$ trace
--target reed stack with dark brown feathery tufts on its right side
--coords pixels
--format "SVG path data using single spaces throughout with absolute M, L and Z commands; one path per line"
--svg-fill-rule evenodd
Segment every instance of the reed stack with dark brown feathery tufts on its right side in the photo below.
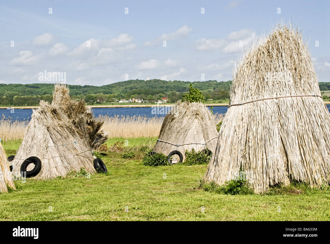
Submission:
M 35 156 L 42 167 L 35 179 L 66 176 L 84 167 L 95 172 L 92 149 L 107 140 L 100 128 L 103 122 L 93 117 L 83 101 L 71 101 L 66 85 L 55 84 L 51 104 L 41 101 L 34 110 L 13 162 L 13 174 L 20 175 L 23 161 Z M 30 168 L 29 168 L 30 167 Z M 33 166 L 28 166 L 28 170 Z

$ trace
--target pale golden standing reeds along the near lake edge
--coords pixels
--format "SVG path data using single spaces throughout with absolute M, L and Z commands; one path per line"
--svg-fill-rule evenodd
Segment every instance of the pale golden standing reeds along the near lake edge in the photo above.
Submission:
M 215 114 L 215 123 L 222 121 L 223 114 Z M 109 138 L 158 137 L 164 117 L 147 116 L 100 116 L 104 122 L 102 130 Z M 0 138 L 4 141 L 23 139 L 27 129 L 27 121 L 0 120 Z

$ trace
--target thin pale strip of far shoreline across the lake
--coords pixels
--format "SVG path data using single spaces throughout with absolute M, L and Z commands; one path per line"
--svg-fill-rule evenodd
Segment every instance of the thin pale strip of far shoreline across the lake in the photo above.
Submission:
M 330 101 L 323 101 L 325 104 L 330 104 Z M 170 107 L 173 106 L 175 103 L 172 104 L 166 104 L 166 103 L 160 103 L 159 106 L 166 106 Z M 149 104 L 124 104 L 124 105 L 86 105 L 90 108 L 107 108 L 107 107 L 154 107 L 157 104 L 149 103 Z M 209 107 L 216 107 L 216 106 L 228 106 L 229 103 L 205 103 L 206 106 Z M 39 108 L 39 106 L 0 106 L 0 109 L 6 109 L 6 108 L 14 108 L 14 109 L 36 109 Z

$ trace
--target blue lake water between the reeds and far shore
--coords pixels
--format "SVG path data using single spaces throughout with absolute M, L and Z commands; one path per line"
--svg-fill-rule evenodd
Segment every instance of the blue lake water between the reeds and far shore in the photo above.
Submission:
M 208 107 L 210 109 L 210 107 Z M 330 104 L 327 105 L 328 110 L 330 110 Z M 152 114 L 152 107 L 107 107 L 107 108 L 92 108 L 94 116 L 99 115 L 123 115 L 123 116 L 148 116 L 148 117 L 163 117 L 165 114 Z M 224 114 L 227 112 L 227 106 L 215 106 L 213 107 L 214 113 Z M 11 109 L 0 109 L 0 115 L 5 116 L 5 118 L 12 118 L 13 120 L 30 120 L 32 114 L 32 109 L 15 109 L 12 113 Z

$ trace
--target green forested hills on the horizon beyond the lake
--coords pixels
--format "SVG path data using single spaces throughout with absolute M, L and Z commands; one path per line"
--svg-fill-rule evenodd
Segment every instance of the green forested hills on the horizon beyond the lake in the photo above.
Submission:
M 202 91 L 205 101 L 229 99 L 231 81 L 194 81 L 193 87 Z M 188 81 L 127 80 L 104 86 L 68 85 L 72 99 L 84 99 L 88 104 L 103 102 L 118 102 L 120 99 L 143 99 L 143 101 L 158 101 L 163 97 L 168 102 L 182 99 L 189 91 Z M 321 91 L 330 90 L 329 82 L 319 83 Z M 0 105 L 38 105 L 40 100 L 52 101 L 54 84 L 0 84 Z M 327 96 L 324 94 L 324 98 Z

